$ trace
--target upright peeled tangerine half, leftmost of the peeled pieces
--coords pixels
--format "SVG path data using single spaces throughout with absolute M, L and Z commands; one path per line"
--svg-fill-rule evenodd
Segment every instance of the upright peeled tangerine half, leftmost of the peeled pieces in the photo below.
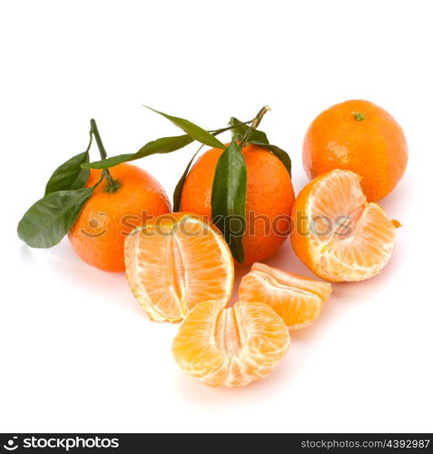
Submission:
M 162 215 L 125 241 L 126 276 L 154 321 L 181 321 L 195 304 L 231 298 L 234 269 L 220 232 L 202 216 Z

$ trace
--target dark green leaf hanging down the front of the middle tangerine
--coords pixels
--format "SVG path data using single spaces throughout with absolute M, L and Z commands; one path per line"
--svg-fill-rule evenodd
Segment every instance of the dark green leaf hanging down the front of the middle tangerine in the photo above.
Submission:
M 233 138 L 221 154 L 212 183 L 212 221 L 221 230 L 233 257 L 245 260 L 242 236 L 245 232 L 247 166 L 241 148 Z

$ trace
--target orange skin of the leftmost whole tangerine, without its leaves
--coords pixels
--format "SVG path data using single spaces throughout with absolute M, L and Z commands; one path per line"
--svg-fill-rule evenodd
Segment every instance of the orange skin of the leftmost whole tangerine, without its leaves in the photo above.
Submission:
M 86 186 L 97 183 L 101 172 L 92 169 Z M 110 168 L 110 173 L 119 189 L 111 193 L 105 180 L 99 184 L 69 232 L 69 240 L 84 262 L 103 271 L 124 271 L 126 235 L 145 220 L 143 216 L 171 212 L 171 205 L 161 184 L 140 167 L 123 163 Z

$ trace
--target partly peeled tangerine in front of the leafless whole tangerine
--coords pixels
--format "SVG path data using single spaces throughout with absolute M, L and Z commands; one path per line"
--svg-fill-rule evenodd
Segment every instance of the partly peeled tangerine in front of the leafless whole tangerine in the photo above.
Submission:
M 312 180 L 293 208 L 293 249 L 327 281 L 363 281 L 379 273 L 396 243 L 396 227 L 368 203 L 356 173 L 334 170 Z

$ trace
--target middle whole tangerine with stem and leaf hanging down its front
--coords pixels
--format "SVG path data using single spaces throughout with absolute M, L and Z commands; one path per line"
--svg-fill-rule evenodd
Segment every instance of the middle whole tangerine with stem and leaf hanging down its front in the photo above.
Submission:
M 241 264 L 271 256 L 290 232 L 290 158 L 256 129 L 268 109 L 250 127 L 233 118 L 231 144 L 204 153 L 182 188 L 181 211 L 212 219 Z

